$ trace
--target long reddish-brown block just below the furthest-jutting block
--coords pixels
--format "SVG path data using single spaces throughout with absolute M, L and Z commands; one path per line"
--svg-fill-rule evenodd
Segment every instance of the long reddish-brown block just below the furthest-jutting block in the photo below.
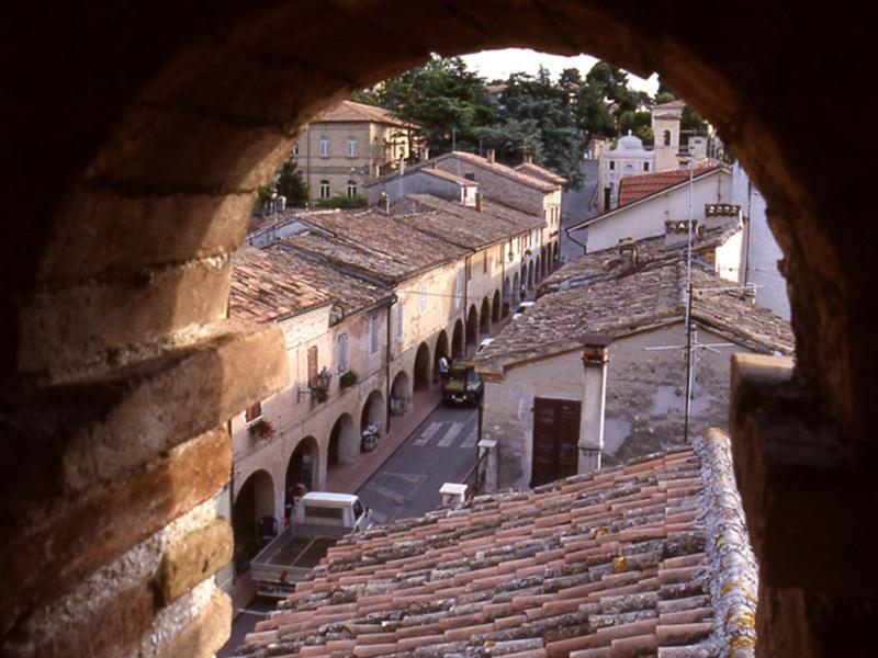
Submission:
M 56 503 L 18 534 L 4 530 L 0 570 L 16 587 L 0 593 L 0 628 L 71 591 L 98 567 L 207 500 L 228 480 L 230 467 L 228 434 L 213 430 L 140 474 Z

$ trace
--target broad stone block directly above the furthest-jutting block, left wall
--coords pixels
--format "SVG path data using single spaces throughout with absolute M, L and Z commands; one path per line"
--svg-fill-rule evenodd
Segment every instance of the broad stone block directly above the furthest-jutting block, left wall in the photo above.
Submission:
M 226 315 L 232 264 L 209 258 L 44 286 L 19 314 L 21 373 L 65 373 Z

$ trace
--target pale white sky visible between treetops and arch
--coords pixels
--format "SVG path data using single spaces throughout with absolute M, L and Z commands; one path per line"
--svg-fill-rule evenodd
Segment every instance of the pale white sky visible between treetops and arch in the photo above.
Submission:
M 597 61 L 590 55 L 577 55 L 576 57 L 564 57 L 562 55 L 550 55 L 548 53 L 537 53 L 529 48 L 505 48 L 503 50 L 483 50 L 464 55 L 462 59 L 466 66 L 476 71 L 483 78 L 494 80 L 505 79 L 509 73 L 524 71 L 536 75 L 540 65 L 544 66 L 556 79 L 559 73 L 565 68 L 577 68 L 585 76 L 588 69 Z M 649 80 L 639 78 L 634 73 L 629 73 L 629 84 L 631 88 L 649 92 L 654 95 L 658 89 L 658 75 L 653 73 Z

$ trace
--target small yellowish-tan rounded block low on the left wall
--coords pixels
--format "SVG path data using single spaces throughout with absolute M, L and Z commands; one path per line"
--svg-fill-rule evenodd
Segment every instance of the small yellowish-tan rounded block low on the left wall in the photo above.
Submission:
M 223 519 L 195 530 L 168 547 L 154 583 L 162 605 L 175 601 L 232 559 L 232 527 Z

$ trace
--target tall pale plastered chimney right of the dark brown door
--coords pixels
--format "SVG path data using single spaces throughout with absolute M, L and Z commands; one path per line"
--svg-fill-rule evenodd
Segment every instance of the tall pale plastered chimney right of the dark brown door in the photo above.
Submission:
M 579 474 L 600 468 L 604 450 L 604 417 L 607 402 L 606 336 L 583 336 L 583 424 L 579 433 Z

